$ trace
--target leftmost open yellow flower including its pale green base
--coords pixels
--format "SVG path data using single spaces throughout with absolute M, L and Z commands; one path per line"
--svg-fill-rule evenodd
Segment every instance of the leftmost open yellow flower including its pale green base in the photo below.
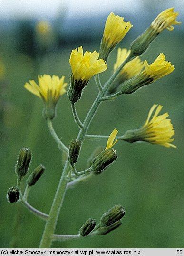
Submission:
M 45 103 L 44 117 L 52 119 L 55 116 L 55 107 L 61 95 L 66 92 L 64 83 L 65 77 L 59 78 L 57 75 L 39 75 L 39 85 L 34 80 L 30 80 L 24 87 L 34 95 L 41 98 Z

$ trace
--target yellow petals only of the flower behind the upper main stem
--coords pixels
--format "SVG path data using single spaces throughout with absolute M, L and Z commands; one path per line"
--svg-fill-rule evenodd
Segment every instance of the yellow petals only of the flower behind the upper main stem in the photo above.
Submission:
M 126 58 L 129 56 L 130 50 L 127 50 L 126 48 L 118 48 L 117 49 L 117 60 L 114 64 L 114 72 L 116 69 L 126 60 Z M 143 69 L 144 64 L 141 61 L 139 57 L 134 58 L 132 61 L 129 61 L 125 64 L 125 66 L 122 68 L 120 72 L 121 80 L 130 79 L 133 76 L 139 74 L 141 70 Z M 123 82 L 122 81 L 122 82 Z

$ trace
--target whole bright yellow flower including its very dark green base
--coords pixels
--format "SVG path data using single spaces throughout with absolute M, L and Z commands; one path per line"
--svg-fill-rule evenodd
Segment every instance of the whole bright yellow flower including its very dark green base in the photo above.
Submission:
M 72 50 L 69 63 L 72 69 L 71 85 L 68 90 L 68 97 L 75 103 L 80 99 L 82 90 L 87 85 L 89 79 L 107 69 L 107 64 L 103 59 L 98 59 L 99 53 L 86 51 L 83 54 L 82 46 L 78 50 Z

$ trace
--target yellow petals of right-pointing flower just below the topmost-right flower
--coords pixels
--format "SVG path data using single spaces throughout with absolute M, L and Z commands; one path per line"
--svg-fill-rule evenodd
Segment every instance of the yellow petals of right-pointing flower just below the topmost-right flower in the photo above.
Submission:
M 160 55 L 150 65 L 148 65 L 147 61 L 145 60 L 144 65 L 145 70 L 143 72 L 145 72 L 148 77 L 153 79 L 152 82 L 170 74 L 175 69 L 169 61 L 165 61 L 165 55 L 163 53 L 160 53 Z

